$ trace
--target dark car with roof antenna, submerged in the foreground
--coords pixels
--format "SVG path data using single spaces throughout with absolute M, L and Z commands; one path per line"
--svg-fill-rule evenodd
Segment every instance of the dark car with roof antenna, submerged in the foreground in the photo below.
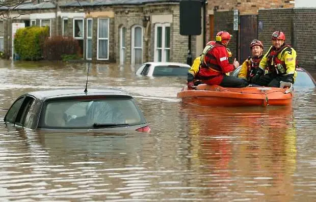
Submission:
M 25 93 L 11 105 L 4 122 L 33 130 L 150 131 L 134 98 L 114 88 Z

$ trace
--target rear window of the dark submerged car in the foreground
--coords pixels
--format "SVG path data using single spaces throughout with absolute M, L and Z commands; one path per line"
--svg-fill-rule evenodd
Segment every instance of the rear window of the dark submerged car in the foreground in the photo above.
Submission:
M 130 98 L 52 100 L 43 109 L 39 128 L 106 128 L 146 123 Z

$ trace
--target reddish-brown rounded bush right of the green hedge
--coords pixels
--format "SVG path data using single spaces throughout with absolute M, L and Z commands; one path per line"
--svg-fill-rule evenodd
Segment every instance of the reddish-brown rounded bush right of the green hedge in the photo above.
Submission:
M 80 59 L 80 46 L 72 37 L 54 36 L 45 40 L 43 56 L 45 60 Z

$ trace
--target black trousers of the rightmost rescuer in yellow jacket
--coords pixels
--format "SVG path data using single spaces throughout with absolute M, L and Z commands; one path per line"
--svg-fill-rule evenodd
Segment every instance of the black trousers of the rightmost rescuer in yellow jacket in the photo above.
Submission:
M 274 74 L 266 74 L 261 76 L 260 78 L 253 81 L 254 84 L 261 86 L 269 86 L 269 87 L 280 87 L 280 81 L 294 83 L 294 74 L 288 74 L 285 76 L 282 75 L 274 75 Z

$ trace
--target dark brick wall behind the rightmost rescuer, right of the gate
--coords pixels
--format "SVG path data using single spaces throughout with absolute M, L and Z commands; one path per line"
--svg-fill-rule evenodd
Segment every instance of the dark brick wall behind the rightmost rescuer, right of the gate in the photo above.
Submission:
M 297 51 L 297 59 L 303 68 L 315 68 L 316 56 L 315 31 L 316 9 L 268 9 L 259 10 L 258 39 L 265 45 L 265 51 L 271 46 L 271 35 L 280 30 L 285 34 L 285 43 L 291 44 Z

